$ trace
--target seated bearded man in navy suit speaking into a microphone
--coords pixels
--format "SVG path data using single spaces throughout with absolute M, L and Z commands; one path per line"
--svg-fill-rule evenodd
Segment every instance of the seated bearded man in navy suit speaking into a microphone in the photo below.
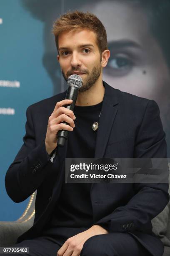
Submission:
M 74 113 L 63 107 L 71 103 L 64 100 L 66 92 L 27 110 L 24 144 L 5 177 L 15 202 L 37 189 L 34 225 L 17 246 L 29 247 L 32 256 L 161 256 L 163 244 L 152 233 L 151 219 L 169 201 L 168 184 L 64 182 L 66 157 L 166 158 L 158 105 L 102 81 L 110 51 L 95 15 L 66 13 L 53 32 L 63 76 L 78 74 L 83 85 Z M 70 131 L 64 148 L 57 146 L 62 129 Z

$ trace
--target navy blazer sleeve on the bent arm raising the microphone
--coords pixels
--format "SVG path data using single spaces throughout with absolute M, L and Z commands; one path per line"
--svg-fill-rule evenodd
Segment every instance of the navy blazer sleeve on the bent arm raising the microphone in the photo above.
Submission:
M 42 184 L 53 163 L 45 148 L 45 139 L 36 146 L 31 106 L 26 111 L 26 134 L 13 163 L 5 175 L 7 194 L 14 202 L 22 202 Z

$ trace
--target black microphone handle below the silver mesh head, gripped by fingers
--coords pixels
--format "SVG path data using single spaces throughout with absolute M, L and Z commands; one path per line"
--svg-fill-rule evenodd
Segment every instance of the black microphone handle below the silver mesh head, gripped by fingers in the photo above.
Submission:
M 79 91 L 79 87 L 77 87 L 77 86 L 72 85 L 72 86 L 68 87 L 65 99 L 72 100 L 72 104 L 65 105 L 64 106 L 65 108 L 68 108 L 72 111 L 74 110 L 75 102 L 77 100 L 78 91 Z M 66 123 L 66 122 L 62 122 L 62 123 L 65 123 L 65 124 L 69 125 L 69 123 Z M 67 137 L 68 137 L 68 131 L 65 131 L 65 130 L 58 131 L 58 133 L 57 133 L 57 138 L 58 138 L 57 146 L 64 146 L 65 141 L 67 140 Z

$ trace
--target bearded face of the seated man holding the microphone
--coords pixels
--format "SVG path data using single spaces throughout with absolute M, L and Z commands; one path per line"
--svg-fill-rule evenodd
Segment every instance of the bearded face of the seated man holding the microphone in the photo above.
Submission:
M 72 74 L 82 77 L 80 92 L 90 89 L 101 74 L 100 51 L 94 32 L 82 29 L 61 33 L 57 56 L 65 80 Z

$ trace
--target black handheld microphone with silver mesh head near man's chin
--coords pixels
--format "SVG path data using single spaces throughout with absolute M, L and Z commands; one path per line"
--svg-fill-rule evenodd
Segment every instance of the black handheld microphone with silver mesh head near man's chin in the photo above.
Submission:
M 68 80 L 67 80 L 67 94 L 65 99 L 67 100 L 72 100 L 72 103 L 70 105 L 65 105 L 65 108 L 68 108 L 70 110 L 74 110 L 75 102 L 77 100 L 77 95 L 80 87 L 82 86 L 82 78 L 79 75 L 72 74 Z M 67 125 L 69 125 L 67 122 L 63 122 Z M 64 146 L 65 141 L 67 140 L 68 137 L 68 131 L 65 130 L 60 130 L 57 133 L 57 146 Z

